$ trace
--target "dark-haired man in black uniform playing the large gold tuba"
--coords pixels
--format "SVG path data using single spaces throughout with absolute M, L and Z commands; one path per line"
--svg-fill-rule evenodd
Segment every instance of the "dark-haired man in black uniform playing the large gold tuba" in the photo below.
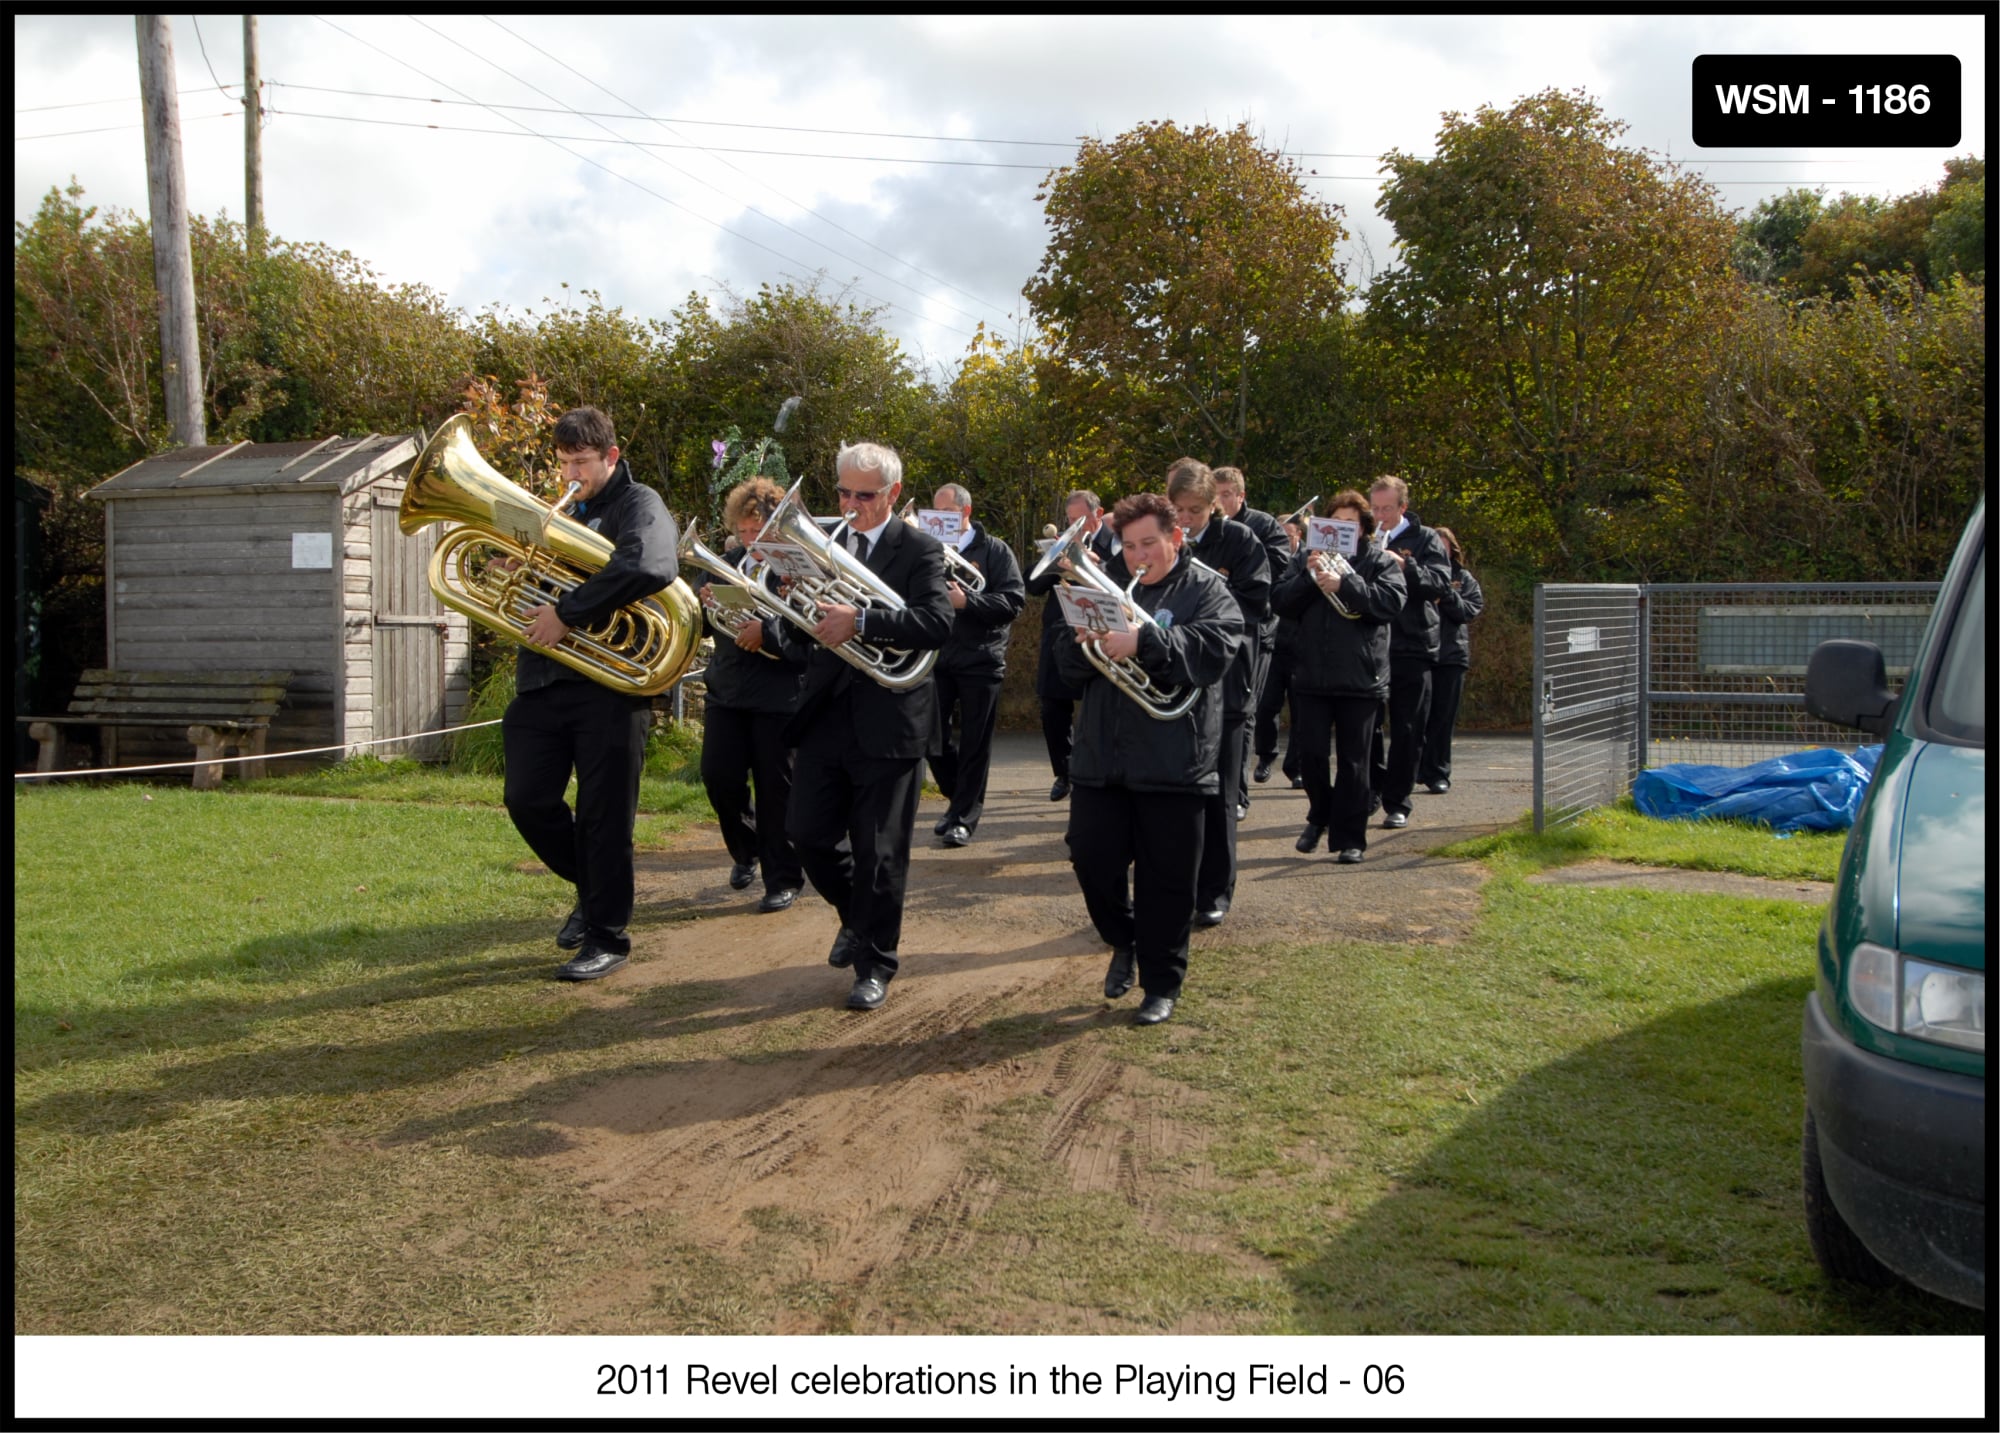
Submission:
M 680 534 L 666 502 L 632 480 L 612 420 L 570 408 L 556 420 L 562 484 L 578 484 L 568 516 L 612 540 L 610 560 L 560 602 L 528 616 L 514 664 L 514 700 L 500 719 L 506 813 L 542 865 L 576 887 L 576 907 L 556 945 L 576 955 L 564 981 L 596 981 L 626 963 L 632 939 L 632 823 L 646 767 L 652 702 L 600 686 L 536 646 L 556 646 L 572 626 L 594 626 L 620 606 L 662 590 L 680 570 Z M 562 799 L 576 773 L 576 811 Z

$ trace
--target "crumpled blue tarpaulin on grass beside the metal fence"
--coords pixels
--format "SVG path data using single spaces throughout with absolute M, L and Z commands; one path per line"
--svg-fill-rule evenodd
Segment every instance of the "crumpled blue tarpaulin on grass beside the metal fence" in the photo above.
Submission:
M 1754 767 L 1674 765 L 1642 771 L 1632 801 L 1662 821 L 1756 821 L 1772 831 L 1844 831 L 1854 825 L 1882 747 L 1852 757 L 1830 747 Z

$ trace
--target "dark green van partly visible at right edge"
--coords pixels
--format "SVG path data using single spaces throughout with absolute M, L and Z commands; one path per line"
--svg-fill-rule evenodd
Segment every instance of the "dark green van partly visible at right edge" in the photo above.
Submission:
M 1822 642 L 1806 708 L 1884 741 L 1806 997 L 1806 1233 L 1838 1279 L 1986 1307 L 1986 502 L 1902 696 Z

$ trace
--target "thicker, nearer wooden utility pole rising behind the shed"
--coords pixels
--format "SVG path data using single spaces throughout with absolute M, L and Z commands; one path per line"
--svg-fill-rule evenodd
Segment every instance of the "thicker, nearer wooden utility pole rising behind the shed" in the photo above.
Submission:
M 174 32 L 164 14 L 136 16 L 138 92 L 146 112 L 146 192 L 152 202 L 152 282 L 160 294 L 160 378 L 174 442 L 208 442 L 202 412 L 202 346 L 194 328 L 194 260 L 188 252 L 188 182 L 180 170 L 180 92 Z

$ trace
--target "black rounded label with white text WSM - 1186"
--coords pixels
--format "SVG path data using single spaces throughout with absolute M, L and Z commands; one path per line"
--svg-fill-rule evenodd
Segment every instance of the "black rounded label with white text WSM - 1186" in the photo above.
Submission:
M 1698 54 L 1694 142 L 1704 150 L 1958 144 L 1956 54 Z

